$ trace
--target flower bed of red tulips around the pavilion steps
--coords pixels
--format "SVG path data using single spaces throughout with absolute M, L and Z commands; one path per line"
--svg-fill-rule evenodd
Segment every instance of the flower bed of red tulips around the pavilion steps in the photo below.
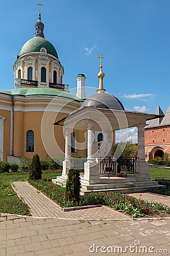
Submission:
M 80 196 L 80 202 L 78 204 L 75 199 L 67 202 L 65 198 L 65 187 L 58 183 L 52 183 L 48 177 L 38 181 L 31 180 L 29 183 L 39 189 L 39 191 L 45 193 L 50 199 L 56 201 L 63 208 L 103 204 L 133 217 L 152 216 L 153 214 L 162 212 L 170 214 L 170 208 L 166 205 L 155 202 L 149 203 L 142 200 L 142 195 L 140 195 L 140 199 L 136 199 L 133 196 L 129 196 L 128 191 L 122 191 L 122 193 L 91 191 L 88 195 Z

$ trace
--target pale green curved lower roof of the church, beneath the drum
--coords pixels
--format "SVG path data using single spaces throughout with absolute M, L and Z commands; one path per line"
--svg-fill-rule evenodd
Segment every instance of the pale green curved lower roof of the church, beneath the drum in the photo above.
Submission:
M 52 89 L 52 88 L 16 88 L 11 90 L 0 90 L 0 94 L 7 94 L 7 95 L 14 95 L 14 96 L 18 95 L 18 96 L 24 96 L 24 97 L 31 97 L 31 96 L 62 97 L 62 98 L 70 98 L 80 102 L 83 101 L 72 93 L 67 93 L 67 92 L 63 92 L 61 90 Z

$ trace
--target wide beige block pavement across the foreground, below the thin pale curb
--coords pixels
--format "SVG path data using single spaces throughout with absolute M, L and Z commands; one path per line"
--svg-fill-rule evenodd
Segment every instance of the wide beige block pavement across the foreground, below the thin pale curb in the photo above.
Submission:
M 169 255 L 170 220 L 80 221 L 1 217 L 1 256 Z M 145 253 L 121 253 L 126 246 L 145 246 Z M 95 245 L 95 246 L 94 246 Z M 90 252 L 96 246 L 99 252 Z M 101 246 L 113 253 L 101 253 Z M 109 247 L 108 247 L 109 246 Z M 121 246 L 118 253 L 115 246 Z M 154 253 L 149 253 L 149 247 Z M 134 249 L 133 248 L 133 249 Z M 156 250 L 168 250 L 155 253 Z M 116 250 L 116 253 L 114 253 Z M 148 253 L 146 253 L 146 250 Z

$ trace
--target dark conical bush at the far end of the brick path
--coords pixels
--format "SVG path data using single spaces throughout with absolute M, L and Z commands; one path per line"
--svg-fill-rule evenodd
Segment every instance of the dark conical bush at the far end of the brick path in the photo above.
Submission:
M 32 158 L 31 168 L 29 170 L 28 180 L 40 180 L 42 176 L 41 163 L 39 155 Z

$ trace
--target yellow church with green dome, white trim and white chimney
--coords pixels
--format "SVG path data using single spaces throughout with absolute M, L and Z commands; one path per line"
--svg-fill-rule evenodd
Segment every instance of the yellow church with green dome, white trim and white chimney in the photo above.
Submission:
M 76 78 L 77 97 L 63 84 L 63 75 L 56 48 L 45 39 L 39 11 L 35 35 L 23 45 L 14 64 L 14 89 L 0 90 L 1 160 L 18 162 L 21 156 L 32 158 L 39 154 L 44 158 L 65 151 L 62 127 L 53 123 L 80 107 L 86 77 L 79 74 Z M 50 134 L 56 138 L 57 146 L 48 146 Z

